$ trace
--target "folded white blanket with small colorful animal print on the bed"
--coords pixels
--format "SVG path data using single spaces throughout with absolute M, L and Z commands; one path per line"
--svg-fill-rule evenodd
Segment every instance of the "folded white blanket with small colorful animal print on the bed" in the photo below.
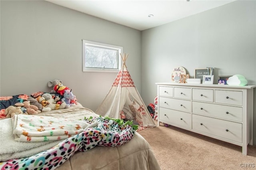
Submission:
M 16 141 L 42 142 L 66 139 L 84 131 L 88 123 L 82 120 L 37 115 L 15 115 L 12 118 Z

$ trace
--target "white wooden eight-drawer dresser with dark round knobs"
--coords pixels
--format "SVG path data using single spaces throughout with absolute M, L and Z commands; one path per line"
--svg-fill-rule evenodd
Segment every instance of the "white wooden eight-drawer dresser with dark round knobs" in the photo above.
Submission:
M 188 83 L 158 85 L 158 126 L 166 123 L 238 146 L 253 139 L 253 88 Z

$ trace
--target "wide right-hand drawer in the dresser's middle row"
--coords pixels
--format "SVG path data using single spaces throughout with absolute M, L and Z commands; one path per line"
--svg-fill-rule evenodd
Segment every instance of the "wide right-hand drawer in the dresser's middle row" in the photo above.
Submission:
M 242 107 L 192 102 L 192 113 L 242 122 Z

